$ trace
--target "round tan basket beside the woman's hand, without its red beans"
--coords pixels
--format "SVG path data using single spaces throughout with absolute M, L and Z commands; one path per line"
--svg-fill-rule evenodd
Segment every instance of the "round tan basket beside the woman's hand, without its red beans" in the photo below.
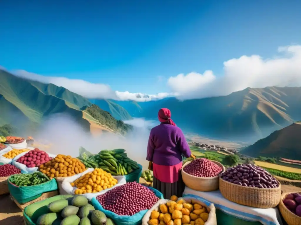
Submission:
M 213 163 L 215 163 L 216 165 L 218 165 L 219 167 L 222 167 L 222 172 L 225 172 L 225 167 L 223 166 L 223 164 L 214 161 L 214 160 L 210 160 Z M 182 167 L 182 179 L 184 184 L 191 188 L 192 190 L 197 190 L 197 191 L 213 191 L 213 190 L 217 190 L 219 189 L 219 176 L 215 176 L 215 177 L 196 177 L 196 176 L 192 176 L 186 172 L 184 172 L 184 167 L 187 166 L 189 163 L 191 163 L 192 161 L 188 161 L 187 163 L 185 163 Z

